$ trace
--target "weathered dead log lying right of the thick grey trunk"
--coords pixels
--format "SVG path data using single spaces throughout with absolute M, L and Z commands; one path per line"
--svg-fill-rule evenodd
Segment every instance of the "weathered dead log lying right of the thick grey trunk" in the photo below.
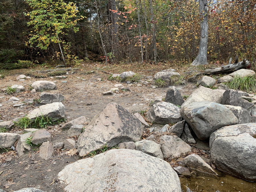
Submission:
M 241 61 L 239 63 L 232 63 L 230 65 L 224 65 L 221 67 L 214 67 L 210 69 L 206 69 L 204 71 L 205 74 L 210 75 L 210 74 L 221 74 L 221 73 L 228 73 L 228 72 L 233 72 L 238 69 L 242 69 L 250 64 L 249 61 Z

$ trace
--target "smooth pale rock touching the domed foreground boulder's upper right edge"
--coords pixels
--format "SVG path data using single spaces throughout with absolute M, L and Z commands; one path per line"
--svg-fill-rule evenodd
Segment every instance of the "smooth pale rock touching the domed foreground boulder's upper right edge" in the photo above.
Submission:
M 142 141 L 138 141 L 135 143 L 135 149 L 138 151 L 142 151 L 143 153 L 146 153 L 148 155 L 164 159 L 162 151 L 161 151 L 161 145 L 158 143 L 155 143 L 154 141 L 143 139 Z

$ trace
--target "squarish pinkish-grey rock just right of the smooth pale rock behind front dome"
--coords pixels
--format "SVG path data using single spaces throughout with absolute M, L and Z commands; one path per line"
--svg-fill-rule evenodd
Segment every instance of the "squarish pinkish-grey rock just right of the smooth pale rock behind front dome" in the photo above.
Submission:
M 191 148 L 176 135 L 164 135 L 159 137 L 159 140 L 160 144 L 162 144 L 162 153 L 164 159 L 167 161 L 172 161 L 172 159 L 186 154 Z

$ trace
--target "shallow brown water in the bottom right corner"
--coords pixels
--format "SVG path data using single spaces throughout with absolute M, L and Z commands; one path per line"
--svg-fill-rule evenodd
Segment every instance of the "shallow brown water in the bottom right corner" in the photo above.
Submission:
M 218 172 L 219 176 L 211 176 L 201 172 L 193 173 L 193 177 L 180 177 L 183 192 L 256 192 L 256 182 L 249 182 Z

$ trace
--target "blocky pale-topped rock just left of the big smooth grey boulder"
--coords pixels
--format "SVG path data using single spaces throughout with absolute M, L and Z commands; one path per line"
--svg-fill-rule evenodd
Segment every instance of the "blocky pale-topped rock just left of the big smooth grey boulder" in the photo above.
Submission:
M 159 124 L 177 123 L 182 120 L 181 108 L 172 103 L 158 102 L 147 112 L 147 119 Z

